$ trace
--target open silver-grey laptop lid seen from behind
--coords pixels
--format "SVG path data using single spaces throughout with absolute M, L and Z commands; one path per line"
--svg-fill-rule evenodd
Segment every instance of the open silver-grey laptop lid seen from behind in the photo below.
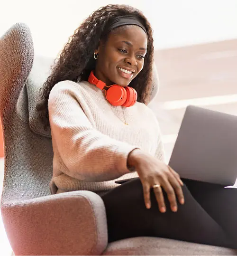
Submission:
M 181 178 L 234 185 L 237 116 L 188 106 L 169 165 Z

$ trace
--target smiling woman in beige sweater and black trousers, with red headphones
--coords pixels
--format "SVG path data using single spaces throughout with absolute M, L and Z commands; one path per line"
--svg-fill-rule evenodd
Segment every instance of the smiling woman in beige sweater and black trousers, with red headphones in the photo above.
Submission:
M 98 9 L 74 32 L 37 107 L 52 133 L 51 192 L 98 193 L 109 242 L 157 236 L 235 248 L 236 190 L 184 185 L 164 163 L 159 124 L 146 106 L 153 51 L 149 22 L 125 5 Z

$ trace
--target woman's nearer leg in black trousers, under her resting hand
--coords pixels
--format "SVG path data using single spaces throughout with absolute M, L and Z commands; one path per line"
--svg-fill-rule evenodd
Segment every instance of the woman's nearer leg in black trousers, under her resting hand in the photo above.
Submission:
M 128 237 L 152 236 L 231 247 L 218 222 L 201 207 L 185 185 L 183 193 L 185 204 L 178 203 L 178 211 L 172 212 L 164 192 L 167 210 L 161 213 L 153 190 L 152 207 L 146 209 L 139 178 L 110 190 L 102 196 L 107 213 L 109 242 Z

